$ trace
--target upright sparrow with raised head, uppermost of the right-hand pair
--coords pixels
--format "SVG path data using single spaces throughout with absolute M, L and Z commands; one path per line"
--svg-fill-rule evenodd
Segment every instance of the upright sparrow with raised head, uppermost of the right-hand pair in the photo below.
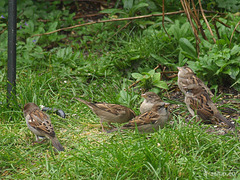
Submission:
M 179 89 L 186 94 L 188 89 L 198 91 L 203 89 L 206 91 L 210 97 L 213 97 L 211 90 L 199 79 L 193 72 L 193 70 L 187 66 L 177 67 L 178 68 L 178 87 Z

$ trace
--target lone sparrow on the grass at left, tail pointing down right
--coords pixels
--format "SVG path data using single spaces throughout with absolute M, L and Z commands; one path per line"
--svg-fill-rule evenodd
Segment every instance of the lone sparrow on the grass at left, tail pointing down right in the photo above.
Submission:
M 58 151 L 64 151 L 53 130 L 50 117 L 41 111 L 36 104 L 25 104 L 23 114 L 29 130 L 36 135 L 37 141 L 39 141 L 39 137 L 47 137 Z

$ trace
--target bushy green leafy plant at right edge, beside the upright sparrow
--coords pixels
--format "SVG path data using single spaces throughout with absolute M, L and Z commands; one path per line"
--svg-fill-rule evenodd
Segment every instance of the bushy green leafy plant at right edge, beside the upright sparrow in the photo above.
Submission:
M 230 49 L 216 44 L 207 54 L 201 55 L 197 61 L 188 61 L 188 64 L 200 77 L 211 81 L 211 85 L 232 86 L 240 90 L 239 52 L 239 45 Z

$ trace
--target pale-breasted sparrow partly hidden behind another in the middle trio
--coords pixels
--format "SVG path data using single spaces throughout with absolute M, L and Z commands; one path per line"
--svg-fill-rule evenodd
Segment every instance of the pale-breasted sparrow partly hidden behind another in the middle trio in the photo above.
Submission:
M 162 102 L 161 98 L 154 92 L 146 92 L 141 95 L 144 100 L 140 105 L 140 112 L 141 114 L 150 111 L 154 104 L 157 102 Z

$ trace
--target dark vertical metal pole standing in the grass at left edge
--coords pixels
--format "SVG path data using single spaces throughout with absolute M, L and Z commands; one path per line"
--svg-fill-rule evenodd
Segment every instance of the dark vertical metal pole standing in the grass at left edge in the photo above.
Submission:
M 8 82 L 7 102 L 16 95 L 16 23 L 17 0 L 8 0 Z

